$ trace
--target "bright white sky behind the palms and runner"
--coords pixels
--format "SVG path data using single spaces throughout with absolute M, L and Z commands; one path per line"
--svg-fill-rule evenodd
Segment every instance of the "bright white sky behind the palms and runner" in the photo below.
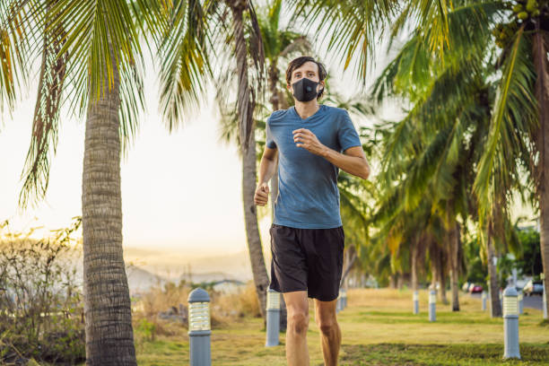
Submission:
M 170 134 L 158 109 L 157 72 L 148 58 L 145 67 L 146 111 L 135 142 L 121 161 L 124 246 L 201 255 L 246 250 L 240 159 L 235 146 L 219 141 L 213 93 L 201 109 L 192 111 L 185 126 Z M 38 74 L 38 65 L 35 70 Z M 360 90 L 352 73 L 344 74 L 337 65 L 328 71 L 330 85 L 338 92 L 349 96 Z M 18 197 L 37 79 L 32 79 L 13 114 L 2 115 L 0 222 L 8 220 L 12 231 L 42 227 L 38 236 L 70 225 L 81 214 L 85 121 L 62 112 L 46 199 L 22 213 Z M 345 85 L 344 90 L 338 85 Z M 263 216 L 259 223 L 265 245 L 270 218 Z

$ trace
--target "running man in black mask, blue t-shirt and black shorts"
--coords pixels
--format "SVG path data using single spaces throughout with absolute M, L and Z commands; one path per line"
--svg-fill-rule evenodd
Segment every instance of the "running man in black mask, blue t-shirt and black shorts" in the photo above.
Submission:
M 274 197 L 270 288 L 283 292 L 288 311 L 286 359 L 309 365 L 309 298 L 315 299 L 326 366 L 337 365 L 341 330 L 335 317 L 344 253 L 337 174 L 342 169 L 368 179 L 370 166 L 344 109 L 318 104 L 327 73 L 312 57 L 298 57 L 286 70 L 295 107 L 267 118 L 256 205 L 266 205 L 267 182 L 279 161 Z M 342 153 L 343 152 L 343 153 Z

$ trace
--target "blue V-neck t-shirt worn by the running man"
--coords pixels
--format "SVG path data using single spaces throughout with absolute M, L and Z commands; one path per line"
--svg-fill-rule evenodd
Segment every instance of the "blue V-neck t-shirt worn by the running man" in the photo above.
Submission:
M 266 121 L 266 145 L 278 149 L 278 196 L 274 223 L 300 229 L 330 229 L 342 225 L 339 213 L 339 169 L 293 142 L 292 131 L 307 128 L 318 141 L 342 153 L 362 146 L 345 109 L 320 104 L 302 119 L 294 107 L 276 110 Z

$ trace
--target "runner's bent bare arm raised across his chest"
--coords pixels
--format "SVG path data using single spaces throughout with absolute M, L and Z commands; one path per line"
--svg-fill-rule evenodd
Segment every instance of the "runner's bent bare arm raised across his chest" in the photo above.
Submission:
M 318 137 L 307 128 L 294 130 L 293 141 L 296 146 L 323 157 L 349 174 L 362 179 L 368 179 L 370 176 L 370 164 L 366 160 L 362 146 L 349 147 L 344 153 L 339 153 L 320 143 Z

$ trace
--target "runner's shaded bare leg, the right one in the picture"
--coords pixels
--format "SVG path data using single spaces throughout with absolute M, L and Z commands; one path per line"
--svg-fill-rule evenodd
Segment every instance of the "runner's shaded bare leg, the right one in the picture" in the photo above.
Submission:
M 341 346 L 341 329 L 335 316 L 334 301 L 315 299 L 315 320 L 320 329 L 320 342 L 325 366 L 337 366 L 337 355 Z

